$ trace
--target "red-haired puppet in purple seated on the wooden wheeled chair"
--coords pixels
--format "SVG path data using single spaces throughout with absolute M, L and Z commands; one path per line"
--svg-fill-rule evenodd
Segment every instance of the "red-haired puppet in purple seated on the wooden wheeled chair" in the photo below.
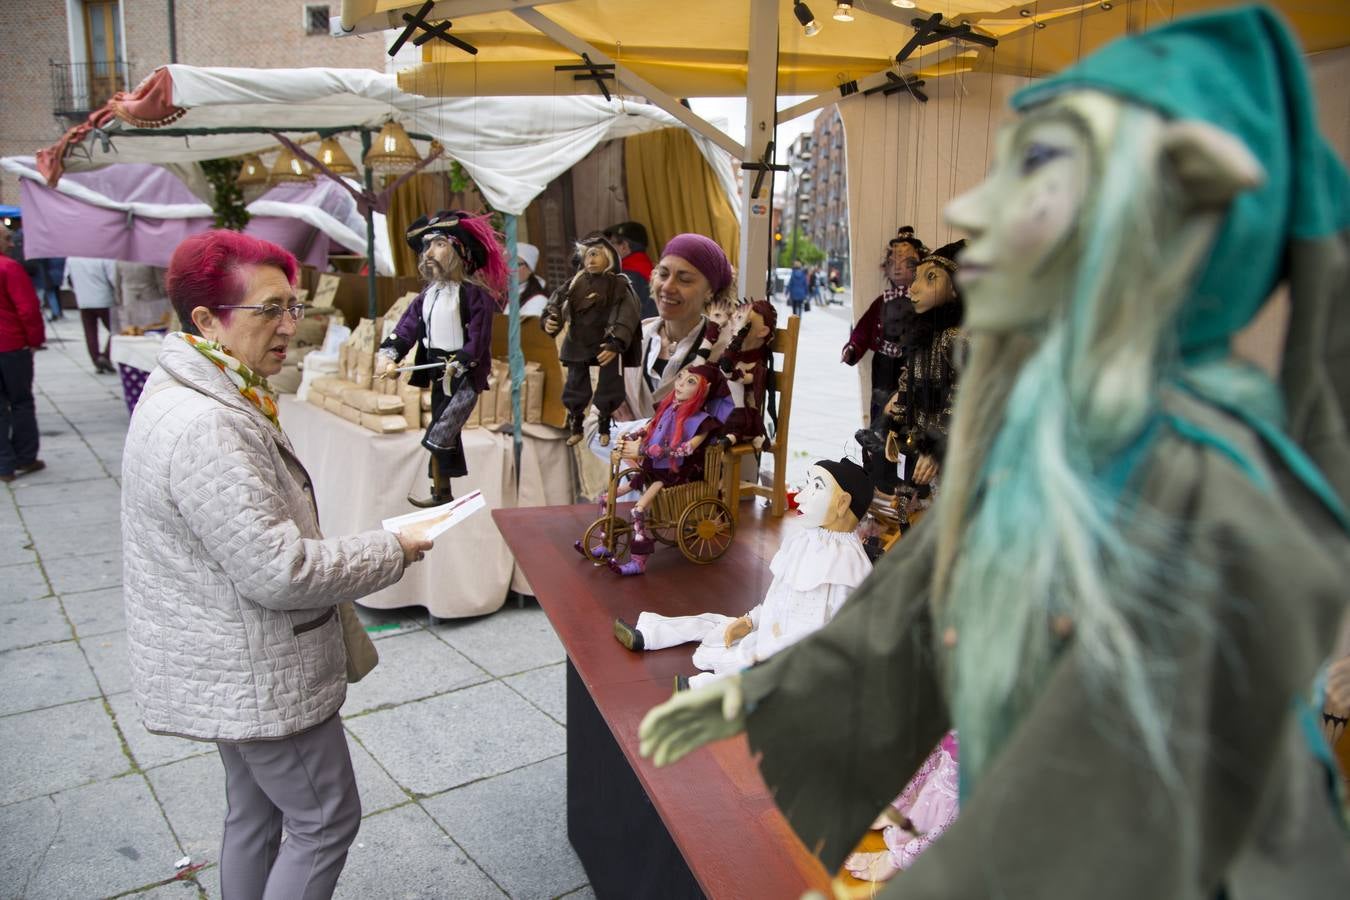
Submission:
M 609 560 L 609 567 L 620 575 L 641 575 L 647 569 L 647 557 L 655 549 L 647 530 L 647 510 L 662 488 L 703 478 L 707 437 L 722 426 L 709 407 L 725 397 L 726 381 L 716 366 L 690 366 L 675 376 L 674 390 L 657 405 L 651 421 L 620 439 L 618 452 L 639 460 L 640 474 L 629 480 L 629 487 L 643 491 L 633 506 L 630 559 L 624 564 Z

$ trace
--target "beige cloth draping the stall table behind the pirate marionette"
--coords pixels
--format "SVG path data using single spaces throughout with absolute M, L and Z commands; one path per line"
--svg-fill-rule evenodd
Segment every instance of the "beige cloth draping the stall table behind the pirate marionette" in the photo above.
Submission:
M 289 395 L 279 398 L 279 409 L 281 425 L 315 483 L 324 534 L 379 528 L 381 519 L 413 510 L 409 493 L 427 493 L 420 429 L 377 434 Z M 526 425 L 517 484 L 510 434 L 466 430 L 468 476 L 454 479 L 452 487 L 456 497 L 481 490 L 487 510 L 440 536 L 401 582 L 358 602 L 370 609 L 424 606 L 439 618 L 462 618 L 501 609 L 508 590 L 532 592 L 489 510 L 571 503 L 575 476 L 564 437 L 558 429 Z

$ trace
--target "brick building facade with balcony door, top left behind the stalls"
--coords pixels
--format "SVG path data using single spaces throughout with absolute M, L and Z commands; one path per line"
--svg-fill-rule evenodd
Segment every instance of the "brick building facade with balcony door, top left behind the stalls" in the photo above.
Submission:
M 0 1 L 0 59 L 9 63 L 0 78 L 0 157 L 50 146 L 84 120 L 92 103 L 112 89 L 135 86 L 174 55 L 194 66 L 385 72 L 385 35 L 333 38 L 319 27 L 323 11 L 336 18 L 339 5 L 339 0 Z M 111 40 L 103 43 L 105 24 Z M 15 178 L 0 173 L 0 204 L 18 202 Z

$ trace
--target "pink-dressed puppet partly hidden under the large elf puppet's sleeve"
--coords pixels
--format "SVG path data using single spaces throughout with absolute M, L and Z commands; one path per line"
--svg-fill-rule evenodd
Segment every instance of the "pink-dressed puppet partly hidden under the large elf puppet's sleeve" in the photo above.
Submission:
M 952 827 L 959 810 L 957 739 L 956 731 L 948 731 L 891 803 L 888 815 L 878 819 L 878 824 L 884 822 L 882 839 L 887 850 L 855 853 L 844 861 L 844 868 L 864 881 L 884 881 L 909 869 L 930 843 Z M 903 824 L 892 822 L 896 814 Z

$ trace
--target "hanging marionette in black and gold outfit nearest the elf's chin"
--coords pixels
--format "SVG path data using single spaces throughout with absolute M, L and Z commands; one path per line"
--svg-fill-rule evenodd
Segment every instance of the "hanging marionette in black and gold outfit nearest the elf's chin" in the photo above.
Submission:
M 855 436 L 876 484 L 882 509 L 907 513 L 926 506 L 946 449 L 957 370 L 965 352 L 961 293 L 956 286 L 964 240 L 925 256 L 910 285 L 911 314 L 900 339 L 905 366 L 869 428 Z

